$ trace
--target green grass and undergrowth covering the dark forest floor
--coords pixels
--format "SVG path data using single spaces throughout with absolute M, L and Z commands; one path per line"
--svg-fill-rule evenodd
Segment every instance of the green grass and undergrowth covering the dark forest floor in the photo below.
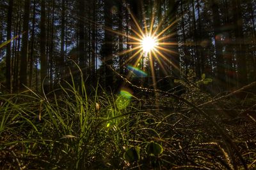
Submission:
M 152 110 L 127 92 L 107 93 L 99 84 L 86 90 L 81 74 L 80 85 L 66 82 L 49 94 L 1 95 L 0 169 L 244 168 L 211 121 L 182 101 L 159 94 Z M 154 103 L 148 98 L 143 103 Z M 196 89 L 183 99 L 211 98 Z M 221 124 L 222 117 L 211 115 L 255 168 L 255 122 Z

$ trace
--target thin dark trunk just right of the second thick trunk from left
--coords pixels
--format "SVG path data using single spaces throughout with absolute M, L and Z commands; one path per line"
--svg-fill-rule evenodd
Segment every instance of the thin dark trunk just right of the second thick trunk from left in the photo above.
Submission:
M 34 63 L 34 41 L 35 41 L 35 17 L 36 17 L 36 1 L 33 1 L 33 21 L 32 21 L 32 34 L 31 34 L 31 52 L 29 64 L 29 87 L 32 87 L 33 82 L 33 63 Z M 37 69 L 37 68 L 36 68 Z

